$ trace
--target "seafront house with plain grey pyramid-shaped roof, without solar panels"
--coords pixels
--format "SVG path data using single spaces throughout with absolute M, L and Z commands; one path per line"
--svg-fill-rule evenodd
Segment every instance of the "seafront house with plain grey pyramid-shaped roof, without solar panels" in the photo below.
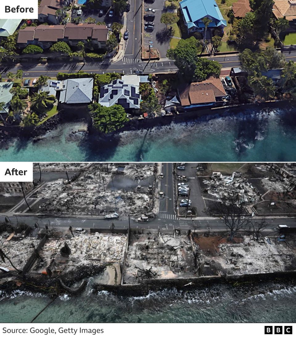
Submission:
M 92 102 L 93 78 L 60 81 L 56 90 L 61 90 L 60 103 L 79 104 Z

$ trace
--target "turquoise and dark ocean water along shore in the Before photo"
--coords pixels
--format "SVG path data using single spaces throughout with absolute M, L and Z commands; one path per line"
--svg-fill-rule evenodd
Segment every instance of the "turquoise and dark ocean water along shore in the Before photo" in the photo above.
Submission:
M 81 124 L 63 124 L 36 143 L 15 141 L 1 149 L 0 161 L 296 160 L 295 107 L 237 110 L 227 117 L 217 115 L 152 130 L 126 131 L 106 140 L 74 136 L 71 132 Z

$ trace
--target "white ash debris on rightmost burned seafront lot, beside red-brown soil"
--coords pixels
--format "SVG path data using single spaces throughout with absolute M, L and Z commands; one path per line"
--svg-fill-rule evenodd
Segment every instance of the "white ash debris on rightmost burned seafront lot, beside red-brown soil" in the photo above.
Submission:
M 220 256 L 215 257 L 226 274 L 271 273 L 286 270 L 295 259 L 295 251 L 286 243 L 278 243 L 262 238 L 254 240 L 253 236 L 244 236 L 242 243 L 220 244 Z

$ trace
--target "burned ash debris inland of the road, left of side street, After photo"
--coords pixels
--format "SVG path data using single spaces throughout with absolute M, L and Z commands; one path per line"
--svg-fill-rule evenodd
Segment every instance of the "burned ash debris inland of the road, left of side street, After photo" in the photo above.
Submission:
M 140 166 L 126 164 L 127 171 L 124 170 L 124 175 L 140 175 L 140 172 L 144 177 L 153 175 L 153 166 Z M 138 215 L 153 207 L 153 195 L 107 189 L 115 174 L 117 174 L 117 166 L 115 165 L 109 164 L 107 172 L 106 165 L 92 164 L 88 170 L 82 172 L 70 184 L 63 186 L 62 179 L 59 183 L 56 181 L 52 184 L 45 184 L 45 187 L 41 188 L 40 194 L 37 193 L 37 195 L 50 197 L 50 188 L 52 188 L 52 200 L 42 204 L 40 209 L 42 212 L 54 213 L 102 214 L 116 211 L 120 215 Z M 58 193 L 56 193 L 57 191 Z

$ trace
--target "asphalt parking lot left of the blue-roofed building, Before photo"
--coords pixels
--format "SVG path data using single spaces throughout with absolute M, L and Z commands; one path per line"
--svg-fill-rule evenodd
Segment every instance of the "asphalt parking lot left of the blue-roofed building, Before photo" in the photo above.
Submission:
M 144 4 L 144 15 L 151 14 L 155 16 L 153 21 L 154 30 L 152 32 L 144 32 L 144 47 L 149 48 L 149 44 L 153 46 L 154 49 L 157 49 L 160 58 L 165 58 L 167 55 L 167 50 L 170 48 L 170 39 L 168 38 L 168 30 L 165 24 L 160 22 L 161 15 L 166 12 L 164 2 L 155 1 L 154 3 L 143 2 Z M 152 8 L 155 10 L 145 11 L 145 9 Z M 144 23 L 147 22 L 144 20 Z

